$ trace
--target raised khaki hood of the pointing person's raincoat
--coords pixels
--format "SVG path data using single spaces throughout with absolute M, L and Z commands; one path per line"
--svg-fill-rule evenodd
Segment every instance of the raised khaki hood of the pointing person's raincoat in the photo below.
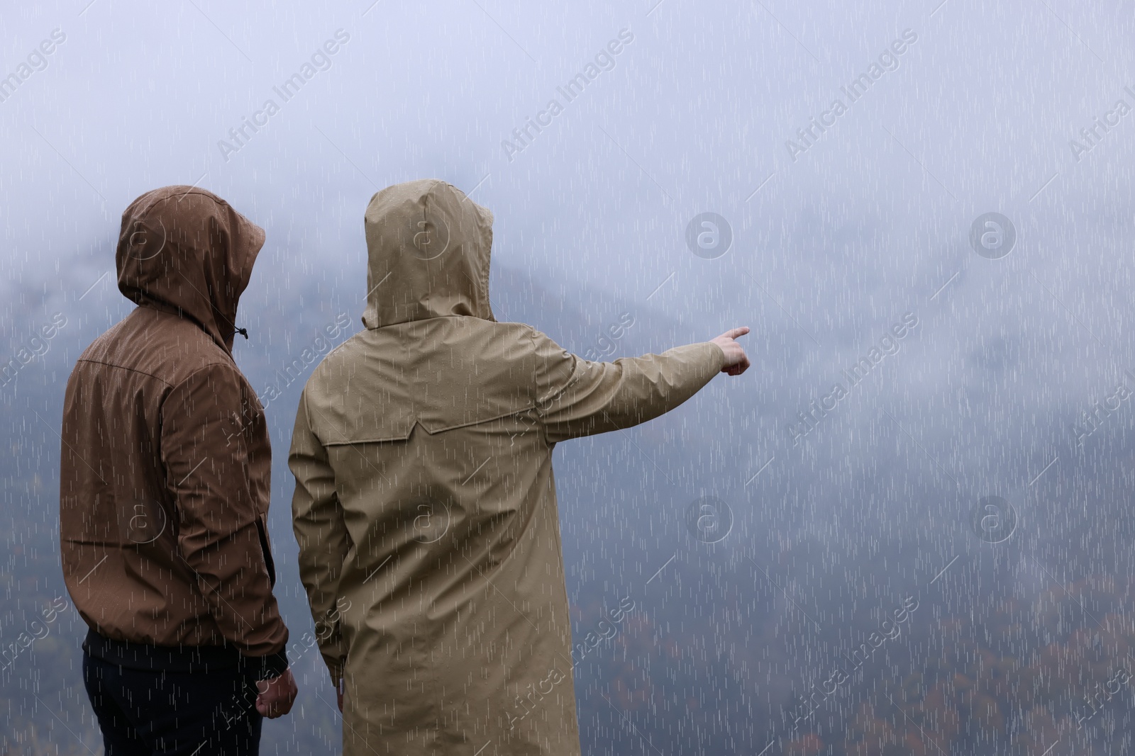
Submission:
M 437 179 L 396 184 L 367 205 L 368 329 L 429 317 L 491 321 L 493 213 Z

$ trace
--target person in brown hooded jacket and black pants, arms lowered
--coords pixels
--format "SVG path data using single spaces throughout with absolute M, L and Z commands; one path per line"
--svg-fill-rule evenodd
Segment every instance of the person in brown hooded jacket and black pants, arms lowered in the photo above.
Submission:
M 255 754 L 261 716 L 295 698 L 272 596 L 271 451 L 232 355 L 263 243 L 203 189 L 135 199 L 116 263 L 137 307 L 67 381 L 60 550 L 107 756 Z

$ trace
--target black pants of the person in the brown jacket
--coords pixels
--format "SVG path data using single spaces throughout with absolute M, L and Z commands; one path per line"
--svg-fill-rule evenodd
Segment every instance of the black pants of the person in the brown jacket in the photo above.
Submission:
M 83 681 L 106 756 L 255 756 L 257 687 L 238 668 L 135 670 L 83 653 Z

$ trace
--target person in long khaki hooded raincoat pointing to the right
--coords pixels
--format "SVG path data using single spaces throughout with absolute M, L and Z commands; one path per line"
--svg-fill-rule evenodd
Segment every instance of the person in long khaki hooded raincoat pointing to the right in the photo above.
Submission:
M 382 189 L 365 232 L 365 330 L 308 381 L 288 457 L 344 754 L 578 756 L 553 447 L 740 374 L 748 329 L 588 362 L 496 322 L 493 215 L 453 186 Z

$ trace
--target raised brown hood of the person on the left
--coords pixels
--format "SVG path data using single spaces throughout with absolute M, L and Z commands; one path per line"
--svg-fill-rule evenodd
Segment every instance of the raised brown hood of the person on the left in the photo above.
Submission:
M 194 321 L 230 352 L 237 303 L 263 244 L 263 229 L 211 192 L 146 192 L 123 213 L 118 290 L 143 307 Z

